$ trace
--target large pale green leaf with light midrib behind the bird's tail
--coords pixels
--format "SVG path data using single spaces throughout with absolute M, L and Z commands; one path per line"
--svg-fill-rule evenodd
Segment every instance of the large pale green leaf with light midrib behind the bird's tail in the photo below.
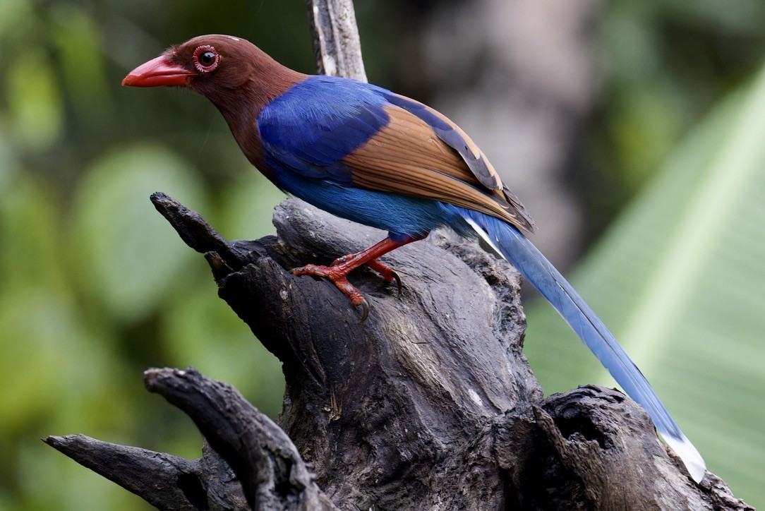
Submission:
M 756 506 L 765 469 L 765 72 L 686 138 L 571 281 L 709 470 Z M 613 385 L 551 308 L 527 313 L 526 353 L 545 389 Z

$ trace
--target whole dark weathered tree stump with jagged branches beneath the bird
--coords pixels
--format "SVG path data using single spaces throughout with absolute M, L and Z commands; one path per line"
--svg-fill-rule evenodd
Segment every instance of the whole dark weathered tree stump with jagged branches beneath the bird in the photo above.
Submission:
M 385 233 L 286 200 L 278 236 L 228 243 L 169 197 L 152 200 L 206 254 L 221 298 L 282 360 L 287 382 L 279 428 L 194 371 L 147 372 L 148 388 L 209 442 L 200 461 L 47 439 L 155 506 L 751 509 L 713 474 L 693 483 L 620 392 L 586 386 L 544 399 L 521 353 L 519 276 L 472 242 L 434 233 L 386 256 L 400 297 L 371 271 L 351 275 L 371 305 L 361 323 L 334 285 L 288 270 Z

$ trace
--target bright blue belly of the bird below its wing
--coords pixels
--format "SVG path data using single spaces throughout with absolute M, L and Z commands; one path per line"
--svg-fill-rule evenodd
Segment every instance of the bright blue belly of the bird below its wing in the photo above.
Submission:
M 347 220 L 384 229 L 394 240 L 427 236 L 439 226 L 451 226 L 460 232 L 467 228 L 451 204 L 435 200 L 345 187 L 290 171 L 279 172 L 274 181 L 288 194 Z

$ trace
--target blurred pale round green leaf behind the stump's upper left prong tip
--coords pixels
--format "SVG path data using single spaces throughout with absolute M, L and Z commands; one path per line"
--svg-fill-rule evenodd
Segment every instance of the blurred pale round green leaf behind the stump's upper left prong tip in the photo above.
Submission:
M 206 209 L 190 165 L 146 145 L 97 161 L 75 199 L 73 265 L 83 286 L 123 321 L 153 311 L 197 258 L 151 206 L 157 190 Z

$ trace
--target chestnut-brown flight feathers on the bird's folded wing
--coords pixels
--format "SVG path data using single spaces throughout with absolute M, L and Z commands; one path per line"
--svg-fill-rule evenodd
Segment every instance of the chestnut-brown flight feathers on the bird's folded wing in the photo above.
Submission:
M 398 106 L 386 111 L 389 124 L 366 145 L 343 158 L 352 171 L 353 184 L 440 200 L 497 216 L 521 229 L 534 229 L 529 213 L 513 194 L 506 192 L 499 177 L 498 187 L 485 186 L 464 158 L 422 119 Z M 483 153 L 475 149 L 488 164 Z

